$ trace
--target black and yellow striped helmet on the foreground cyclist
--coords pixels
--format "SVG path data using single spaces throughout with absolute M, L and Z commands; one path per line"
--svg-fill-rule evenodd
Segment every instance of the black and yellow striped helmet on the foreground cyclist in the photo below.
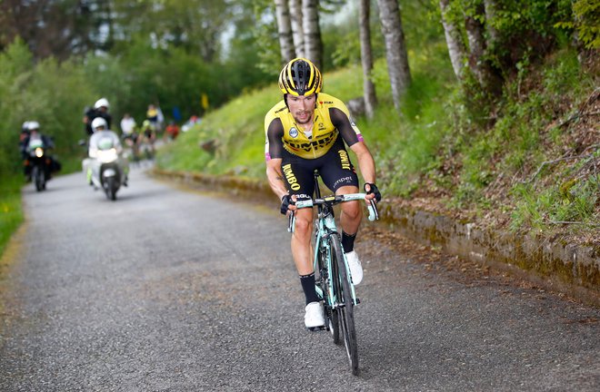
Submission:
M 279 88 L 282 93 L 295 96 L 310 95 L 319 93 L 321 87 L 323 87 L 321 72 L 315 64 L 305 58 L 295 58 L 285 64 L 284 69 L 279 73 Z

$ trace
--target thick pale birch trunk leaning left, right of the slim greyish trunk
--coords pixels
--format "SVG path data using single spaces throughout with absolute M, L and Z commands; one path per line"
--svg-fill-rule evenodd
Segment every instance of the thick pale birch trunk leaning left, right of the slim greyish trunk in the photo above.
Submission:
M 400 109 L 400 99 L 411 82 L 402 17 L 397 0 L 377 0 L 377 4 L 385 37 L 385 57 L 392 96 L 396 109 Z

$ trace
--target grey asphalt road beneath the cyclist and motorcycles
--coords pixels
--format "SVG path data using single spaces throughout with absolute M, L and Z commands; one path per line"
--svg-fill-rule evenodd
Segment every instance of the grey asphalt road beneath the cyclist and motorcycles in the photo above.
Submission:
M 353 377 L 304 328 L 277 211 L 131 177 L 115 202 L 80 173 L 25 187 L 1 391 L 600 390 L 600 309 L 432 269 L 377 236 L 357 245 Z

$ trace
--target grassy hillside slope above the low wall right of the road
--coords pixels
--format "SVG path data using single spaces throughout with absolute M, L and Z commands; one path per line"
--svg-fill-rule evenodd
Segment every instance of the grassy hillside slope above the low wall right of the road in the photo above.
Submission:
M 465 111 L 447 73 L 424 69 L 395 113 L 377 64 L 379 107 L 358 125 L 378 167 L 385 202 L 592 246 L 600 254 L 600 72 L 563 51 L 507 85 L 491 116 Z M 347 102 L 359 94 L 360 70 L 325 74 L 325 92 Z M 240 96 L 207 115 L 161 152 L 176 171 L 263 179 L 266 111 L 275 86 Z

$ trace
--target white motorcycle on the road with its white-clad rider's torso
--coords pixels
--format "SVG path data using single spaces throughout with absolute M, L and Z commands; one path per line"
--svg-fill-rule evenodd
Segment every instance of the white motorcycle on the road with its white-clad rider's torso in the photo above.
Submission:
M 95 155 L 95 156 L 94 156 Z M 116 192 L 122 185 L 127 186 L 128 162 L 123 158 L 110 138 L 98 141 L 98 149 L 88 163 L 91 181 L 95 187 L 105 191 L 106 198 L 116 200 Z

